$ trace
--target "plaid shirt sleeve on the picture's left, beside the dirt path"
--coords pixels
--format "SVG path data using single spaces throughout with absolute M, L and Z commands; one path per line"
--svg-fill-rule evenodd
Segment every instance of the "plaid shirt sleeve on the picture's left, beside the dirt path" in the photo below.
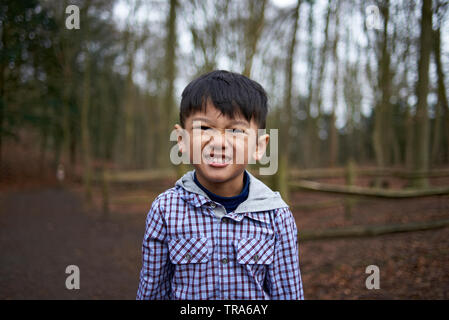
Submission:
M 170 299 L 173 270 L 168 256 L 167 241 L 167 226 L 159 199 L 156 199 L 146 219 L 137 300 Z

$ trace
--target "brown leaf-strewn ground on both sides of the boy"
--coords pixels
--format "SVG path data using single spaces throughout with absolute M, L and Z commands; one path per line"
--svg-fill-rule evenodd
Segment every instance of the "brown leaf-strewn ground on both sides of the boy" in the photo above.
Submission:
M 87 205 L 76 184 L 3 189 L 0 299 L 135 299 L 146 213 L 154 197 L 172 183 L 115 187 L 107 217 L 100 210 L 99 191 L 93 204 Z M 127 200 L 130 197 L 131 202 Z M 363 200 L 352 204 L 351 216 L 345 216 L 344 201 L 329 195 L 294 193 L 291 205 L 299 234 L 301 230 L 449 217 L 447 197 Z M 314 207 L 317 203 L 324 205 Z M 305 297 L 448 299 L 447 239 L 449 228 L 300 241 Z M 65 287 L 65 269 L 72 264 L 80 268 L 80 290 Z M 380 269 L 378 290 L 365 287 L 369 265 Z

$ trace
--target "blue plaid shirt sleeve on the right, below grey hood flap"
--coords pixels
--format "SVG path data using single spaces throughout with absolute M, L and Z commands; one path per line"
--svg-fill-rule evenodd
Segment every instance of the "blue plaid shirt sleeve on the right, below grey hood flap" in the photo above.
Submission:
M 295 219 L 289 208 L 282 208 L 275 220 L 275 256 L 268 268 L 266 287 L 273 300 L 304 300 Z

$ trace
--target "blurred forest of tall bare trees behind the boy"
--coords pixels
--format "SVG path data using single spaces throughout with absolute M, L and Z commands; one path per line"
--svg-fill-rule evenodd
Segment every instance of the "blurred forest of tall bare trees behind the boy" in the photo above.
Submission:
M 180 91 L 214 69 L 265 87 L 286 168 L 353 160 L 426 172 L 449 161 L 445 1 L 70 3 L 80 29 L 66 28 L 67 1 L 1 6 L 6 169 L 22 139 L 68 173 L 173 167 Z

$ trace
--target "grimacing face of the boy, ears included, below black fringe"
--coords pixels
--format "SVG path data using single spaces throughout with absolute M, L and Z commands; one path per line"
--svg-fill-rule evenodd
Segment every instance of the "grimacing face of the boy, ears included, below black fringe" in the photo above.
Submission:
M 175 125 L 175 129 L 182 130 Z M 249 162 L 259 160 L 265 153 L 268 134 L 257 137 L 257 124 L 242 115 L 229 118 L 211 103 L 206 112 L 193 113 L 185 120 L 188 139 L 178 134 L 181 152 L 188 152 L 197 175 L 210 183 L 224 183 L 237 179 Z

